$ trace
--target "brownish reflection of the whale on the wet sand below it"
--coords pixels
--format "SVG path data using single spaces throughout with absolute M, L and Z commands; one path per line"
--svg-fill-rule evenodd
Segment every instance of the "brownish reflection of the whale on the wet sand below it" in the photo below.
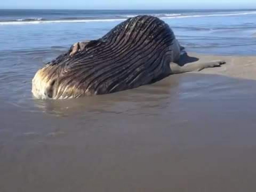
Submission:
M 175 95 L 175 89 L 179 86 L 179 78 L 168 77 L 160 82 L 141 86 L 137 89 L 126 90 L 106 95 L 66 99 L 66 100 L 34 100 L 35 106 L 45 113 L 65 116 L 81 112 L 115 112 L 124 113 L 132 108 L 142 109 L 149 103 L 164 105 Z M 157 100 L 157 103 L 156 103 Z

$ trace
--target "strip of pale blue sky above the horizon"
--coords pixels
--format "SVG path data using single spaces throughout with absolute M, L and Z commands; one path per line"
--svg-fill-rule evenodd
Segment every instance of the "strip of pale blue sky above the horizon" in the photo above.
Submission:
M 246 9 L 256 0 L 1 0 L 0 9 Z

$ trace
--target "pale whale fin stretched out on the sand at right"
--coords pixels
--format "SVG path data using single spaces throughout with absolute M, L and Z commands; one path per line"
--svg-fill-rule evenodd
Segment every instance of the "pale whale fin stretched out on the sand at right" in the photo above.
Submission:
M 170 63 L 170 68 L 172 74 L 175 73 L 185 73 L 185 72 L 190 72 L 190 71 L 201 71 L 204 68 L 210 68 L 210 67 L 220 67 L 221 65 L 225 64 L 226 61 L 224 60 L 214 60 L 214 61 L 209 61 L 209 62 L 193 62 L 193 63 L 188 63 L 183 66 L 180 66 L 177 63 Z

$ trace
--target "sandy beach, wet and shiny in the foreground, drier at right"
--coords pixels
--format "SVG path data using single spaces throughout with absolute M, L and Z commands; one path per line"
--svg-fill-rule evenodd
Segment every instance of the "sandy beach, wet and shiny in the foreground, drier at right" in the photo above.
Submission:
M 0 98 L 0 191 L 254 192 L 256 60 L 225 59 L 109 95 Z

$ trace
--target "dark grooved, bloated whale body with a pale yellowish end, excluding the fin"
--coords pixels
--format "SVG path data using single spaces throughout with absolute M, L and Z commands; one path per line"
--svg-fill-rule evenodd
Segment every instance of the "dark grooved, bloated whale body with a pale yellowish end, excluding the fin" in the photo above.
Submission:
M 170 63 L 179 60 L 180 50 L 164 21 L 133 17 L 46 64 L 36 73 L 32 92 L 36 98 L 64 99 L 132 89 L 174 73 Z

